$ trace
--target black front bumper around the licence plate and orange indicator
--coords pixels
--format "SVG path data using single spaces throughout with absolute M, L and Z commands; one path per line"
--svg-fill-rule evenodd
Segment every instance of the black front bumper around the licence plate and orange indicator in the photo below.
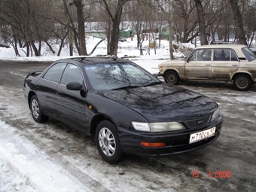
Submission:
M 194 151 L 215 142 L 221 134 L 222 122 L 223 117 L 220 116 L 215 123 L 210 123 L 203 129 L 187 129 L 173 133 L 142 133 L 120 127 L 118 127 L 118 131 L 120 144 L 125 153 L 157 157 Z M 208 130 L 212 127 L 216 127 L 214 136 L 189 144 L 190 134 Z M 147 148 L 142 146 L 140 142 L 164 142 L 166 146 Z

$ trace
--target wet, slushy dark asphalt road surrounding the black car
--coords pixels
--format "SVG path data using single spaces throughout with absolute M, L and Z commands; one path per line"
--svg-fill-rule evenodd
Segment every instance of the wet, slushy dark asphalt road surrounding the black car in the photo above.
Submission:
M 196 90 L 218 102 L 224 123 L 220 138 L 198 151 L 169 157 L 141 158 L 126 155 L 117 165 L 99 157 L 90 137 L 50 119 L 45 124 L 32 120 L 23 98 L 23 79 L 50 62 L 0 60 L 0 120 L 14 126 L 17 134 L 33 142 L 53 162 L 92 191 L 120 191 L 118 182 L 127 181 L 123 191 L 255 191 L 256 187 L 256 87 L 247 92 L 230 83 L 183 82 L 178 86 Z M 1 130 L 1 127 L 0 127 Z M 1 136 L 1 135 L 0 135 Z M 66 160 L 68 158 L 69 160 Z M 74 160 L 72 163 L 70 160 Z M 88 163 L 89 162 L 89 163 Z M 90 183 L 88 169 L 97 163 L 105 183 Z M 117 176 L 111 177 L 111 172 Z M 83 177 L 84 174 L 84 177 Z M 113 175 L 113 174 L 112 174 Z M 89 179 L 89 180 L 88 180 Z M 1 181 L 0 181 L 1 183 Z M 111 187 L 109 187 L 111 186 Z M 129 186 L 129 187 L 128 187 Z M 93 190 L 94 189 L 94 190 Z

